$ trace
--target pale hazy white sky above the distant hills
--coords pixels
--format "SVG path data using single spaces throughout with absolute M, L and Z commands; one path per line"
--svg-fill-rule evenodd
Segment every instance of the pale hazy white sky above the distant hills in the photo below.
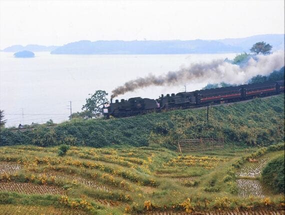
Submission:
M 284 33 L 284 0 L 0 0 L 0 48 Z

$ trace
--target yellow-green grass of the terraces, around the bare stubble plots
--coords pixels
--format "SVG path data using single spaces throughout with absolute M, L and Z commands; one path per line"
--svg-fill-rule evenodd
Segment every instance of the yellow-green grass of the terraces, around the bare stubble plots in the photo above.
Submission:
M 122 214 L 124 211 L 147 211 L 147 208 L 186 211 L 192 206 L 195 210 L 211 210 L 241 205 L 279 207 L 280 203 L 279 194 L 271 195 L 270 200 L 265 201 L 258 197 L 238 198 L 236 193 L 231 192 L 234 181 L 225 182 L 230 165 L 257 150 L 252 147 L 226 145 L 224 149 L 192 152 L 183 157 L 159 147 L 96 149 L 73 146 L 63 157 L 57 156 L 57 150 L 56 147 L 30 145 L 0 147 L 0 162 L 21 164 L 21 169 L 16 174 L 9 175 L 9 179 L 7 175 L 1 175 L 1 181 L 30 181 L 41 184 L 40 173 L 56 172 L 96 181 L 98 185 L 107 186 L 109 191 L 90 188 L 68 179 L 55 177 L 52 180 L 47 177 L 43 183 L 66 188 L 67 203 L 60 196 L 11 194 L 2 191 L 0 204 L 26 207 L 31 204 L 53 205 L 61 208 L 60 210 L 64 207 L 86 209 L 79 203 L 85 199 L 91 203 L 90 213 L 96 211 L 99 214 Z M 280 151 L 276 151 L 269 154 L 273 157 L 279 153 Z M 176 180 L 177 177 L 192 176 L 195 176 L 193 181 L 197 181 L 195 186 L 192 186 L 192 180 L 186 178 Z M 73 201 L 75 203 L 72 206 Z M 0 206 L 0 210 L 1 208 L 5 207 Z

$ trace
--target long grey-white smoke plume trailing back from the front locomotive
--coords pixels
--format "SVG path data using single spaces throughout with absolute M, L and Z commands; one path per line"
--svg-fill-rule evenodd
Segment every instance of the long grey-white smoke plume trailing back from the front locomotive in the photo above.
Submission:
M 112 90 L 111 98 L 126 92 L 134 91 L 151 85 L 174 85 L 191 81 L 226 82 L 230 84 L 243 84 L 251 77 L 260 74 L 268 75 L 273 70 L 284 66 L 284 51 L 277 51 L 270 55 L 257 55 L 256 59 L 250 58 L 245 65 L 239 66 L 229 62 L 212 60 L 211 62 L 192 63 L 189 67 L 166 74 L 155 76 L 148 74 L 125 82 Z

